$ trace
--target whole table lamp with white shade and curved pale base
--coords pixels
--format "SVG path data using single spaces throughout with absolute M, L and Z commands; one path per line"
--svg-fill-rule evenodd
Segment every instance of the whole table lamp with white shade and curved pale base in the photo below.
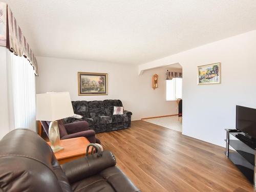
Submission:
M 36 94 L 36 120 L 51 121 L 48 136 L 54 153 L 63 150 L 57 120 L 73 115 L 69 92 Z

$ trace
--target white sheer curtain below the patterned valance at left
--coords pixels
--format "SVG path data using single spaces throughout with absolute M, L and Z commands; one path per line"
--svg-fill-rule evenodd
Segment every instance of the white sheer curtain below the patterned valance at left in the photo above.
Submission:
M 24 57 L 7 51 L 9 123 L 36 131 L 35 74 Z

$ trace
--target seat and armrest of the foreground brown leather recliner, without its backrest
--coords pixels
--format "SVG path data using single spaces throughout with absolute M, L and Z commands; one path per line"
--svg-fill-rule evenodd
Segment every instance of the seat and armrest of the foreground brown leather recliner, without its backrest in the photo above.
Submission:
M 122 171 L 115 166 L 115 156 L 103 151 L 61 165 L 74 191 L 139 191 Z M 114 190 L 113 190 L 114 188 Z

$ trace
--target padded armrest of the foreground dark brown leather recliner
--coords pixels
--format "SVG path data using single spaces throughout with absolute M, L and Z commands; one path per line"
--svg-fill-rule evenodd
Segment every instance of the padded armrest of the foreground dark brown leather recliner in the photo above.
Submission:
M 61 165 L 63 172 L 66 174 L 70 184 L 98 174 L 102 170 L 115 166 L 116 159 L 110 151 L 103 151 L 102 156 L 91 154 L 83 158 Z

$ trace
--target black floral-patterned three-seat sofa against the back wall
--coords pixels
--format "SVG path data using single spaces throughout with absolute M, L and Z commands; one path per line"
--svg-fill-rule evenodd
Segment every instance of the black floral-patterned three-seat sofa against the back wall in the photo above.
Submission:
M 68 117 L 65 123 L 87 121 L 90 129 L 96 133 L 126 129 L 131 126 L 132 112 L 124 111 L 123 115 L 113 115 L 114 106 L 123 106 L 120 100 L 72 101 L 74 113 L 82 119 Z

